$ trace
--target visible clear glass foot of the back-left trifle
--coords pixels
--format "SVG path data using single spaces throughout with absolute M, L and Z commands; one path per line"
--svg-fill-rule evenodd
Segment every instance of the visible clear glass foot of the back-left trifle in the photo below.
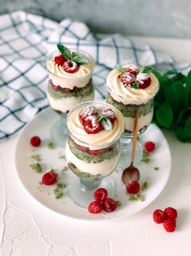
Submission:
M 69 130 L 66 125 L 66 117 L 61 117 L 55 124 L 53 124 L 51 130 L 51 139 L 57 146 L 66 146 L 68 140 Z

